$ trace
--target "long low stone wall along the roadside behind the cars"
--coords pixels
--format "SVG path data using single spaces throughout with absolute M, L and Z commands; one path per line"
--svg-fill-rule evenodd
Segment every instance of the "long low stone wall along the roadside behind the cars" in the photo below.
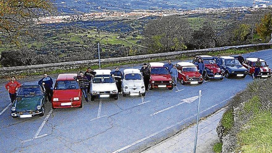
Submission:
M 148 54 L 148 55 L 137 55 L 130 57 L 117 57 L 117 58 L 105 58 L 101 59 L 101 64 L 105 63 L 116 63 L 116 62 L 125 62 L 125 61 L 141 61 L 146 59 L 156 59 L 162 57 L 175 57 L 184 54 L 198 54 L 212 51 L 220 51 L 226 49 L 241 49 L 241 48 L 251 48 L 251 47 L 265 47 L 270 46 L 272 43 L 262 43 L 262 44 L 250 44 L 250 45 L 239 45 L 239 46 L 227 46 L 227 47 L 218 47 L 210 49 L 198 49 L 198 50 L 186 50 L 186 51 L 176 51 L 169 53 L 157 53 L 157 54 Z M 98 59 L 95 60 L 85 60 L 85 61 L 73 61 L 73 62 L 62 62 L 62 63 L 50 63 L 50 64 L 40 64 L 40 65 L 31 65 L 31 66 L 15 66 L 15 67 L 1 67 L 0 68 L 0 77 L 10 76 L 10 75 L 19 75 L 23 73 L 36 73 L 36 72 L 48 72 L 52 70 L 67 70 L 67 69 L 79 69 L 87 66 L 97 65 Z

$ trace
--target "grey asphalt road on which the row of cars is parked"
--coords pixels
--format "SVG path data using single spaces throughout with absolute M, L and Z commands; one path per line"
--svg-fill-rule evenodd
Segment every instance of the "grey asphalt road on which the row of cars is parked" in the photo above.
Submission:
M 272 66 L 272 49 L 244 57 L 261 57 Z M 51 110 L 46 103 L 44 117 L 16 119 L 11 117 L 10 99 L 0 84 L 0 152 L 141 152 L 196 121 L 198 100 L 194 96 L 199 90 L 203 94 L 200 116 L 205 117 L 226 106 L 252 81 L 248 75 L 202 85 L 178 83 L 173 90 L 147 91 L 145 97 L 119 95 L 118 100 L 84 101 L 83 108 Z

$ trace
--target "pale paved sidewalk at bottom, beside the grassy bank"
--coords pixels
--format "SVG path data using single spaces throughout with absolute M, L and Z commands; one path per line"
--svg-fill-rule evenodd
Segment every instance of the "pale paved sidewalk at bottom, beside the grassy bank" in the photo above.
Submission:
M 198 123 L 197 153 L 213 152 L 211 149 L 219 141 L 216 127 L 226 108 L 222 108 L 206 120 Z M 192 153 L 196 125 L 176 134 L 142 153 Z

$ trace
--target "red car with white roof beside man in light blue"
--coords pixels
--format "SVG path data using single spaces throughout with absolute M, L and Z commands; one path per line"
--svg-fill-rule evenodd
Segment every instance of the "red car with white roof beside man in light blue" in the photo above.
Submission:
M 202 84 L 202 75 L 198 72 L 198 67 L 193 63 L 189 62 L 178 62 L 176 63 L 178 71 L 177 79 L 181 80 L 181 84 Z

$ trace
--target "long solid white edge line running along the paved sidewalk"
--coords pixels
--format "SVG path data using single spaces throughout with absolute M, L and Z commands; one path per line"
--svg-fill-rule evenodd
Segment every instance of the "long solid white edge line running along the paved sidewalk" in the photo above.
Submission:
M 230 99 L 232 99 L 233 97 L 234 97 L 234 96 L 231 96 L 230 98 L 228 98 L 228 99 L 226 99 L 226 100 L 220 102 L 219 104 L 222 104 L 223 102 L 225 102 L 225 101 L 227 101 L 227 100 L 230 100 Z M 214 106 L 212 106 L 212 107 L 210 107 L 210 108 L 207 108 L 207 109 L 203 110 L 202 112 L 200 112 L 200 114 L 203 113 L 203 112 L 206 112 L 207 110 L 209 110 L 209 109 L 211 109 L 211 108 L 214 108 L 215 106 L 217 106 L 217 105 L 219 105 L 219 104 L 216 104 L 216 105 L 214 105 Z M 148 135 L 148 136 L 145 137 L 145 138 L 142 138 L 142 139 L 140 139 L 140 140 L 138 140 L 138 141 L 136 141 L 136 142 L 133 142 L 133 143 L 131 143 L 131 144 L 125 146 L 125 147 L 122 147 L 121 149 L 118 149 L 117 151 L 113 151 L 112 153 L 118 153 L 118 152 L 124 151 L 125 149 L 127 149 L 127 148 L 129 148 L 129 147 L 132 147 L 132 146 L 134 146 L 134 145 L 136 145 L 136 144 L 138 144 L 138 143 L 140 143 L 140 142 L 142 142 L 142 141 L 144 141 L 144 140 L 146 140 L 146 139 L 148 139 L 148 138 L 151 138 L 151 137 L 153 137 L 153 136 L 155 136 L 155 135 L 157 135 L 157 134 L 159 134 L 159 133 L 161 133 L 161 132 L 164 132 L 164 131 L 166 131 L 166 130 L 168 130 L 168 129 L 170 129 L 170 128 L 176 126 L 176 125 L 179 125 L 179 124 L 181 124 L 182 122 L 185 122 L 185 121 L 187 121 L 187 120 L 189 120 L 189 119 L 191 119 L 191 118 L 193 118 L 193 117 L 196 117 L 196 116 L 197 116 L 197 113 L 195 113 L 193 116 L 191 116 L 191 117 L 189 117 L 189 118 L 186 118 L 186 119 L 181 120 L 180 122 L 178 122 L 178 123 L 176 123 L 176 124 L 172 124 L 172 125 L 170 125 L 170 126 L 164 128 L 164 129 L 162 129 L 162 130 L 159 130 L 158 132 L 155 132 L 155 133 L 153 133 L 153 134 Z

